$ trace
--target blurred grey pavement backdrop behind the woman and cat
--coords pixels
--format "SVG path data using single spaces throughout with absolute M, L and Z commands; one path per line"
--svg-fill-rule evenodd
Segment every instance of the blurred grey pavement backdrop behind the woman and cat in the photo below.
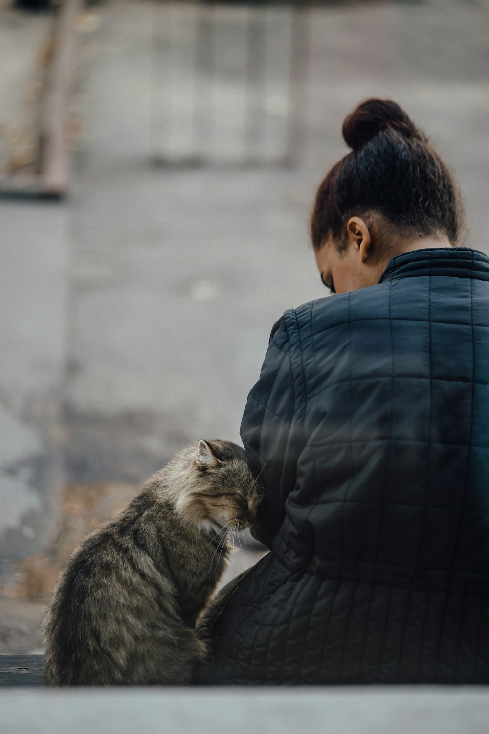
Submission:
M 359 101 L 427 131 L 489 253 L 488 31 L 489 0 L 0 0 L 0 654 L 142 480 L 240 441 L 274 321 L 325 295 Z

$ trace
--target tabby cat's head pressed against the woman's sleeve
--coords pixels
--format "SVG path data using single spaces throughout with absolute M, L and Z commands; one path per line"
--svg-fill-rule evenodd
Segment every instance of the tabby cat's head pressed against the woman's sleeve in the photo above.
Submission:
M 263 490 L 243 448 L 230 441 L 199 441 L 188 459 L 191 481 L 175 502 L 181 517 L 215 532 L 243 530 L 256 521 Z

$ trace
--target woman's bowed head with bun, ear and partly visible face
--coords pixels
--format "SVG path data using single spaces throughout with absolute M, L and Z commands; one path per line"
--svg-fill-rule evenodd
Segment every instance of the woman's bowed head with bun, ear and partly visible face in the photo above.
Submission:
M 352 148 L 326 174 L 311 218 L 323 280 L 336 264 L 352 290 L 378 282 L 394 255 L 455 244 L 463 217 L 444 162 L 395 102 L 369 99 L 343 123 Z M 362 247 L 363 246 L 363 247 Z M 326 272 L 325 272 L 326 269 Z

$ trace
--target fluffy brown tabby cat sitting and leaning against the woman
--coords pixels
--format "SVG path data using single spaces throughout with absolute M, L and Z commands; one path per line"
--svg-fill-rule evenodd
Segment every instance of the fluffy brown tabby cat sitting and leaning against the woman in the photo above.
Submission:
M 59 576 L 43 622 L 46 683 L 188 683 L 229 531 L 254 522 L 260 498 L 245 451 L 227 441 L 187 446 L 150 477 Z

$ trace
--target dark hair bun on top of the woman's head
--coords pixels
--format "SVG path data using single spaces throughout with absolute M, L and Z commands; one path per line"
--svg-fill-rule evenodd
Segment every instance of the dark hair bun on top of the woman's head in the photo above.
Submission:
M 422 138 L 422 134 L 402 107 L 389 99 L 367 99 L 345 117 L 342 133 L 346 144 L 358 150 L 381 130 L 391 127 L 405 137 Z

